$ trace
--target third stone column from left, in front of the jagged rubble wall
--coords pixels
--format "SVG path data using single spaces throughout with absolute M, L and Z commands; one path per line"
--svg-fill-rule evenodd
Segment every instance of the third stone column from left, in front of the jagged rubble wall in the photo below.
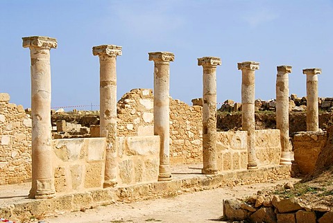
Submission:
M 148 54 L 149 61 L 154 61 L 154 134 L 161 140 L 158 181 L 170 181 L 169 65 L 175 56 L 169 52 Z

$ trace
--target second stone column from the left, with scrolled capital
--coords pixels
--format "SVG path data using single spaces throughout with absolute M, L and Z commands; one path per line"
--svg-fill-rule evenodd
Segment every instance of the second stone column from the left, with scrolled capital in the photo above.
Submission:
M 100 136 L 107 141 L 104 188 L 117 184 L 117 55 L 121 46 L 101 45 L 92 48 L 100 64 Z

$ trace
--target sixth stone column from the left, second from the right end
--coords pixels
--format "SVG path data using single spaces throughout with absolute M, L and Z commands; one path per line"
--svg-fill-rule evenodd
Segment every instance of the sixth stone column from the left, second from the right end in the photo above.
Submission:
M 276 75 L 276 128 L 280 130 L 280 165 L 291 165 L 289 151 L 289 77 L 292 66 L 278 66 Z

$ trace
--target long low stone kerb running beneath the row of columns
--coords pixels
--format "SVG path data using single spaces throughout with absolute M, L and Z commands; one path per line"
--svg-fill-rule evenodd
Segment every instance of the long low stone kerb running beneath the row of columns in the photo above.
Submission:
M 187 175 L 172 181 L 151 182 L 133 186 L 119 186 L 57 195 L 51 199 L 10 199 L 0 206 L 0 216 L 15 220 L 20 215 L 56 214 L 58 211 L 80 211 L 85 208 L 113 204 L 114 202 L 135 202 L 155 199 L 157 197 L 174 197 L 178 194 L 208 190 L 223 186 L 263 183 L 269 180 L 287 179 L 290 177 L 290 166 L 259 168 L 224 172 L 219 175 Z

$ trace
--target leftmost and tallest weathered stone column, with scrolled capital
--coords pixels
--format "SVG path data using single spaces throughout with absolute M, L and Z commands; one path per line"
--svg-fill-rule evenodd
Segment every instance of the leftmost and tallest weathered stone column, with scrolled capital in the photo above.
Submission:
M 50 50 L 57 40 L 50 37 L 23 37 L 31 55 L 32 182 L 29 198 L 54 197 L 51 138 Z

